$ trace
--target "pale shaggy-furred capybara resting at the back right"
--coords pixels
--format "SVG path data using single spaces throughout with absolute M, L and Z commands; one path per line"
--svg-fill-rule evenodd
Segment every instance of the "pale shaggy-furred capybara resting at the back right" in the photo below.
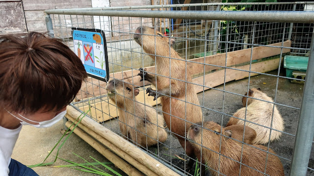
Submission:
M 270 97 L 262 93 L 260 89 L 255 89 L 255 88 L 250 89 L 248 96 L 256 98 L 256 99 L 260 99 L 260 100 L 274 102 Z M 284 130 L 284 120 L 281 117 L 276 105 L 274 107 L 274 104 L 270 102 L 255 100 L 251 98 L 246 99 L 246 97 L 243 97 L 242 98 L 243 106 L 246 105 L 246 100 L 247 100 L 247 107 L 246 108 L 243 107 L 237 110 L 234 114 L 234 117 L 244 119 L 245 109 L 246 109 L 246 120 L 262 125 L 262 126 L 259 126 L 259 125 L 255 125 L 249 122 L 245 123 L 245 126 L 252 127 L 253 129 L 255 129 L 257 133 L 257 136 L 255 140 L 253 141 L 253 144 L 263 145 L 263 144 L 268 143 L 270 129 L 263 126 L 270 127 L 271 122 L 273 122 L 271 128 L 279 130 L 279 131 Z M 273 121 L 271 121 L 272 118 L 273 118 Z M 244 121 L 232 117 L 230 118 L 227 126 L 236 125 L 236 124 L 244 124 Z M 279 131 L 271 130 L 270 141 L 280 138 L 281 132 Z

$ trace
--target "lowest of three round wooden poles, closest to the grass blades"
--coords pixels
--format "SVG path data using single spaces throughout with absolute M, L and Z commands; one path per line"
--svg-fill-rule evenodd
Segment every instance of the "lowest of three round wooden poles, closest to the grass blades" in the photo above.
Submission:
M 71 122 L 65 123 L 65 126 L 70 127 Z M 71 126 L 70 129 L 72 130 L 74 126 Z M 123 172 L 125 172 L 128 176 L 144 176 L 141 172 L 139 172 L 136 168 L 131 166 L 131 164 L 124 161 L 119 156 L 115 155 L 111 151 L 107 150 L 104 146 L 102 146 L 100 143 L 98 143 L 95 139 L 91 138 L 88 134 L 86 134 L 84 131 L 76 127 L 73 131 L 76 133 L 80 138 L 82 138 L 85 142 L 87 142 L 90 146 L 92 146 L 94 149 L 99 151 L 102 155 L 104 155 L 110 162 L 112 162 L 114 165 L 116 165 L 119 169 L 121 169 Z

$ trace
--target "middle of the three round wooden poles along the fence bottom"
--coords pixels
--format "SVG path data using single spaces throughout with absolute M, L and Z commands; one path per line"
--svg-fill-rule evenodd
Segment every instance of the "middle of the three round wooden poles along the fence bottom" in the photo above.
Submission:
M 65 116 L 67 119 L 69 119 L 71 122 L 74 122 L 75 119 L 69 115 Z M 75 122 L 74 124 L 77 124 Z M 115 154 L 126 160 L 128 163 L 136 167 L 139 171 L 144 173 L 147 176 L 158 176 L 156 173 L 154 173 L 152 170 L 148 169 L 146 166 L 141 164 L 140 162 L 136 161 L 133 157 L 131 157 L 128 153 L 125 151 L 122 151 L 120 148 L 117 148 L 117 146 L 110 143 L 108 140 L 94 132 L 93 130 L 89 129 L 88 127 L 78 124 L 78 127 L 85 131 L 90 136 L 94 137 L 97 141 L 99 141 L 101 144 L 105 145 L 109 150 L 113 151 Z

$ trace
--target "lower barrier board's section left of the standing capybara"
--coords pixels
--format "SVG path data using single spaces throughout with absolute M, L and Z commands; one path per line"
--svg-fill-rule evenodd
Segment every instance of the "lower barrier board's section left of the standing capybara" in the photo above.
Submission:
M 155 86 L 149 86 L 152 87 L 152 89 L 155 89 Z M 147 89 L 148 87 L 146 87 Z M 159 99 L 157 101 L 154 101 L 154 97 L 148 96 L 146 93 L 146 90 L 143 88 L 139 88 L 140 92 L 136 96 L 136 101 L 145 103 L 147 105 L 153 106 L 156 105 L 157 102 L 160 102 Z M 117 108 L 116 108 L 116 103 L 108 98 L 103 98 L 103 101 L 96 102 L 96 103 L 91 103 L 91 111 L 89 115 L 95 119 L 97 119 L 100 122 L 107 121 L 112 118 L 118 117 L 117 114 Z M 79 107 L 80 110 L 86 111 L 89 108 L 88 105 Z

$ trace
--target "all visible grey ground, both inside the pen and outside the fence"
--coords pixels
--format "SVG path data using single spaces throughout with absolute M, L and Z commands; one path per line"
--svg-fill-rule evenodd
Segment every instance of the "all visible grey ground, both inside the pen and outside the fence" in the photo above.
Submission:
M 273 71 L 268 74 L 277 75 L 277 71 Z M 280 75 L 285 75 L 285 73 L 280 73 Z M 248 88 L 248 82 L 248 78 L 246 78 L 226 83 L 225 90 L 228 92 L 244 95 L 245 91 Z M 261 90 L 268 96 L 275 98 L 276 82 L 277 77 L 268 75 L 257 75 L 250 78 L 250 88 L 261 88 Z M 288 79 L 279 78 L 276 102 L 300 108 L 303 86 L 303 84 L 293 84 L 290 83 Z M 224 85 L 215 88 L 223 90 Z M 219 90 L 211 89 L 205 91 L 204 93 L 199 93 L 198 98 L 200 100 L 200 104 L 208 108 L 203 109 L 204 120 L 214 121 L 218 124 L 222 124 L 223 126 L 225 126 L 229 120 L 229 117 L 222 115 L 218 112 L 224 112 L 226 114 L 233 115 L 237 109 L 242 107 L 242 97 L 230 93 L 223 93 Z M 285 121 L 284 131 L 289 134 L 295 135 L 299 110 L 282 105 L 277 105 L 277 108 L 282 114 L 282 117 Z M 119 133 L 117 120 L 110 120 L 104 125 Z M 41 162 L 48 154 L 48 151 L 52 149 L 53 145 L 61 137 L 61 133 L 59 132 L 61 128 L 63 128 L 62 122 L 59 122 L 57 125 L 47 129 L 37 129 L 29 126 L 23 127 L 16 147 L 13 151 L 12 158 L 17 159 L 26 165 L 37 164 Z M 293 144 L 294 137 L 288 134 L 283 134 L 280 140 L 270 143 L 270 148 L 281 157 L 280 159 L 284 165 L 286 176 L 288 176 L 290 169 Z M 310 168 L 314 168 L 313 148 L 314 147 L 312 147 L 312 152 L 310 156 Z M 178 169 L 183 172 L 184 161 L 182 159 L 178 159 L 175 155 L 185 158 L 184 151 L 178 140 L 174 136 L 169 135 L 167 141 L 164 144 L 160 144 L 155 148 L 149 148 L 146 151 L 156 156 L 161 161 L 169 164 L 169 167 Z M 59 153 L 59 157 L 82 163 L 83 161 L 74 156 L 72 152 L 77 153 L 88 161 L 92 161 L 89 156 L 93 156 L 103 162 L 107 161 L 100 153 L 98 153 L 87 143 L 82 141 L 76 134 L 73 134 L 66 142 L 66 145 L 63 146 Z M 50 161 L 51 160 L 52 158 L 50 158 Z M 65 164 L 65 162 L 58 159 L 54 165 L 61 164 Z M 34 170 L 40 176 L 91 175 L 70 168 L 37 167 L 34 168 Z M 118 169 L 115 168 L 115 170 Z M 120 171 L 119 173 L 125 175 L 122 171 Z M 194 173 L 194 171 L 192 171 L 191 173 Z M 210 176 L 209 172 L 207 172 L 206 175 Z M 307 176 L 314 176 L 314 173 L 308 170 Z

